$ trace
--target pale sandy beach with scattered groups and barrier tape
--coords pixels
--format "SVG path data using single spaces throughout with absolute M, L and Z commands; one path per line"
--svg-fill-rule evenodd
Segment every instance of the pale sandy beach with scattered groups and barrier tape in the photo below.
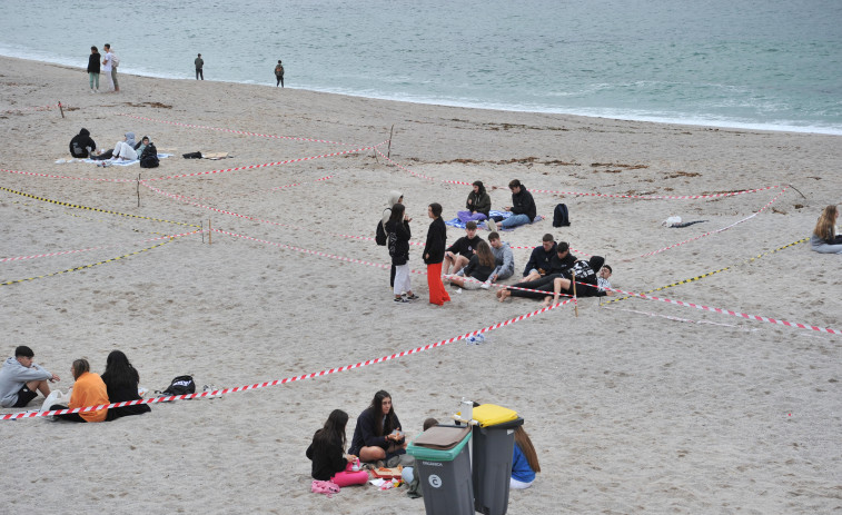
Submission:
M 236 387 L 536 311 L 449 286 L 452 303 L 428 304 L 420 246 L 410 266 L 422 299 L 392 300 L 388 254 L 372 240 L 389 191 L 404 194 L 423 244 L 427 205 L 455 217 L 470 190 L 455 182 L 477 179 L 493 209 L 511 205 L 506 185 L 519 179 L 549 217 L 503 234 L 522 247 L 516 277 L 551 232 L 577 256 L 605 256 L 624 291 L 842 329 L 842 261 L 802 241 L 824 206 L 842 202 L 839 136 L 128 75 L 121 92 L 92 95 L 81 68 L 0 65 L 3 358 L 32 347 L 65 390 L 75 358 L 101 373 L 113 349 L 150 390 L 181 374 Z M 132 131 L 174 157 L 155 169 L 57 164 L 82 127 L 102 148 Z M 390 161 L 372 149 L 380 143 Z M 194 151 L 231 157 L 181 158 Z M 703 198 L 674 198 L 691 196 Z M 558 202 L 571 227 L 552 227 Z M 663 227 L 670 216 L 705 221 Z M 462 235 L 448 228 L 448 242 Z M 460 339 L 139 417 L 0 420 L 0 512 L 422 514 L 405 488 L 310 493 L 313 433 L 341 408 L 350 440 L 378 389 L 408 434 L 447 419 L 462 397 L 516 409 L 543 472 L 512 492 L 513 515 L 842 508 L 842 336 L 618 297 L 514 321 L 483 345 Z

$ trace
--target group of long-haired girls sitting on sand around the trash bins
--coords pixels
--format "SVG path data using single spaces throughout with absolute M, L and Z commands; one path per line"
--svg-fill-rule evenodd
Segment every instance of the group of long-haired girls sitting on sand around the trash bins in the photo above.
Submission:
M 403 479 L 409 485 L 416 484 L 415 462 L 406 454 L 406 436 L 388 392 L 377 392 L 368 408 L 357 417 L 350 447 L 345 436 L 347 424 L 348 414 L 334 409 L 325 425 L 313 435 L 306 455 L 313 462 L 310 475 L 314 479 L 330 481 L 338 486 L 364 485 L 369 479 L 365 468 L 403 465 Z M 438 420 L 427 418 L 424 430 L 435 425 Z M 541 472 L 537 453 L 529 436 L 518 426 L 515 429 L 509 486 L 528 488 L 535 481 L 536 472 Z

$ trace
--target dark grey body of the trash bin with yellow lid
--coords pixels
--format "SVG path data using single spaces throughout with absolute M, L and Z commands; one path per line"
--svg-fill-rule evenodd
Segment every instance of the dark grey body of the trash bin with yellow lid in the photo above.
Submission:
M 505 515 L 508 509 L 508 486 L 512 455 L 515 450 L 515 427 L 523 418 L 495 425 L 474 426 L 474 507 L 485 515 Z

